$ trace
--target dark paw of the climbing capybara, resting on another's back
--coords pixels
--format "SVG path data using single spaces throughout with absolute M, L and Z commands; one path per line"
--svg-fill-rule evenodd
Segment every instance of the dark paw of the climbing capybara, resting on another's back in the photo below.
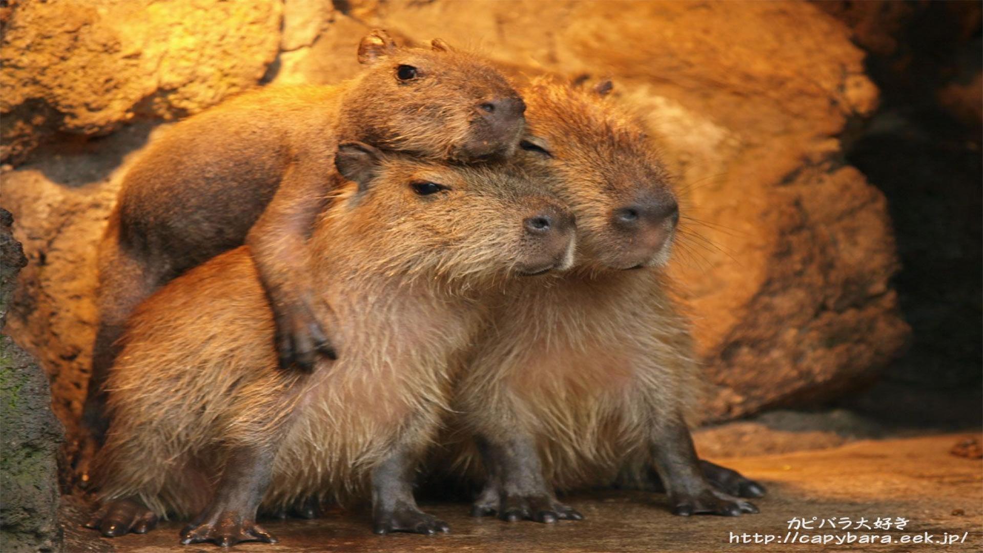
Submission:
M 276 349 L 281 369 L 296 367 L 306 373 L 314 372 L 321 355 L 331 360 L 338 358 L 318 319 L 304 308 L 289 309 L 277 317 Z

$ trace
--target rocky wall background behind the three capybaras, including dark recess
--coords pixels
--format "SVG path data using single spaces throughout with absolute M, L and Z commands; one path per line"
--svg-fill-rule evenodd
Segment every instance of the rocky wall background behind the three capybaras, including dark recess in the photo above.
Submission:
M 976 3 L 9 0 L 0 22 L 2 203 L 29 259 L 7 332 L 70 437 L 127 168 L 229 95 L 355 75 L 376 27 L 518 79 L 611 78 L 647 117 L 679 176 L 709 421 L 979 388 Z

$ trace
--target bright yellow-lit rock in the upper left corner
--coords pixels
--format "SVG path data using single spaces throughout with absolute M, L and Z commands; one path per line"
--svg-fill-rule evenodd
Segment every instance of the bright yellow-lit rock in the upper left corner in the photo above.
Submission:
M 183 116 L 254 87 L 276 55 L 280 11 L 265 0 L 13 4 L 0 53 L 0 159 L 23 161 L 58 133 Z

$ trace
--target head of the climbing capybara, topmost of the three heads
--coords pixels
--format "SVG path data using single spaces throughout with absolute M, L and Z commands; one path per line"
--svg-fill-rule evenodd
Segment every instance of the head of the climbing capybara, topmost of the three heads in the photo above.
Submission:
M 398 47 L 385 31 L 359 45 L 367 66 L 347 92 L 343 117 L 364 142 L 425 157 L 474 161 L 512 154 L 526 105 L 488 62 L 439 38 Z

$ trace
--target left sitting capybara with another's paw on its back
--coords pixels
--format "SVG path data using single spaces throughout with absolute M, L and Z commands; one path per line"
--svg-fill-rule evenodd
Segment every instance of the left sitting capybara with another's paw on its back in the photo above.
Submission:
M 446 529 L 417 508 L 412 475 L 480 328 L 483 290 L 568 268 L 573 217 L 501 168 L 360 143 L 342 145 L 337 166 L 354 183 L 305 251 L 316 305 L 331 306 L 317 316 L 351 354 L 312 374 L 277 369 L 248 246 L 172 280 L 134 312 L 107 381 L 90 527 L 121 535 L 199 514 L 184 543 L 271 541 L 260 505 L 371 489 L 377 532 Z

